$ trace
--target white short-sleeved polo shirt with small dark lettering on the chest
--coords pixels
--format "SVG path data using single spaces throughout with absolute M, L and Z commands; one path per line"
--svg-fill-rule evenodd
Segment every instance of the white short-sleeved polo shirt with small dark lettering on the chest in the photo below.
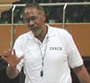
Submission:
M 24 67 L 25 83 L 72 83 L 70 67 L 83 64 L 72 36 L 51 26 L 42 43 L 30 31 L 17 38 L 14 49 L 18 57 L 24 55 L 17 69 Z

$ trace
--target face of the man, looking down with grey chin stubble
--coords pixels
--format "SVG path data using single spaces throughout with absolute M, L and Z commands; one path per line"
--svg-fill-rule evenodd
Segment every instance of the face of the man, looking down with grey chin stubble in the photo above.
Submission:
M 35 36 L 38 36 L 42 33 L 45 15 L 40 13 L 39 10 L 35 7 L 29 7 L 25 9 L 24 19 Z

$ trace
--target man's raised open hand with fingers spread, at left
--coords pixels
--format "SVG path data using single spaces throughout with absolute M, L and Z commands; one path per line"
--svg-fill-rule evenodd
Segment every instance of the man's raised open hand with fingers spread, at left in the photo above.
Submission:
M 15 67 L 23 58 L 23 56 L 18 58 L 15 54 L 15 50 L 11 50 L 11 49 L 5 51 L 0 56 L 2 57 L 2 59 L 4 59 L 8 64 L 10 64 L 13 67 Z

